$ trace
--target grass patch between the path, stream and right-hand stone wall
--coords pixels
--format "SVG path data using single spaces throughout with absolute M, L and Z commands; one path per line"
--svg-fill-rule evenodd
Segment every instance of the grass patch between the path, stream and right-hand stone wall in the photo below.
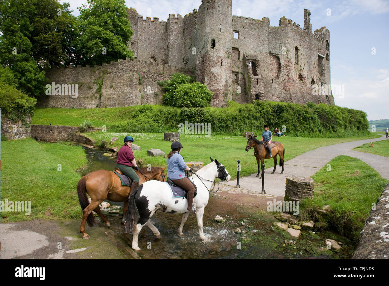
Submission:
M 299 218 L 317 224 L 319 230 L 335 227 L 340 234 L 359 240 L 372 204 L 377 202 L 387 180 L 369 165 L 349 156 L 338 156 L 312 176 L 314 197 L 300 203 Z M 320 210 L 329 205 L 328 212 Z

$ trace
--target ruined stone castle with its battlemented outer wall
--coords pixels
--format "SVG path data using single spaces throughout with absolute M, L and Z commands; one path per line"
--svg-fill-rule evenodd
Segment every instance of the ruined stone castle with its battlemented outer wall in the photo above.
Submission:
M 202 0 L 198 11 L 167 21 L 128 9 L 135 59 L 95 67 L 52 68 L 50 84 L 77 84 L 77 96 L 53 91 L 40 106 L 119 107 L 161 104 L 158 81 L 182 72 L 195 75 L 214 92 L 211 106 L 228 101 L 272 100 L 334 104 L 331 89 L 312 94 L 312 85 L 330 85 L 329 31 L 312 33 L 310 12 L 304 26 L 282 17 L 279 26 L 232 15 L 231 0 Z M 107 51 L 109 53 L 109 51 Z M 59 90 L 59 89 L 58 89 Z M 326 89 L 327 90 L 327 89 Z

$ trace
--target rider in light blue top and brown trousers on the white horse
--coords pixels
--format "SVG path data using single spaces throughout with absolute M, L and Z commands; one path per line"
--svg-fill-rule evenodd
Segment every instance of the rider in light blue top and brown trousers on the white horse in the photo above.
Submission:
M 182 145 L 178 141 L 174 141 L 172 143 L 172 151 L 169 152 L 166 163 L 168 165 L 168 178 L 171 179 L 177 186 L 185 189 L 188 192 L 188 212 L 196 213 L 193 208 L 193 196 L 195 195 L 195 186 L 189 181 L 187 177 L 185 177 L 184 171 L 191 171 L 184 161 L 184 158 L 179 154 L 181 151 Z

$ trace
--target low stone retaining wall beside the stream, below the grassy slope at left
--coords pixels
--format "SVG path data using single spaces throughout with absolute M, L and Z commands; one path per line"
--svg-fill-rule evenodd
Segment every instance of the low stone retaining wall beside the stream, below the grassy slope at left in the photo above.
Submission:
M 90 128 L 86 131 L 93 130 Z M 44 142 L 72 141 L 87 145 L 94 145 L 95 142 L 88 137 L 78 134 L 76 126 L 61 125 L 31 125 L 31 138 Z

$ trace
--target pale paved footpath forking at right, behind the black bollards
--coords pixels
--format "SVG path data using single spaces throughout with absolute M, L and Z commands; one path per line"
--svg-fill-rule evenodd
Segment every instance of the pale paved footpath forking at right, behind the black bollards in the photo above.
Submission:
M 375 168 L 383 178 L 389 180 L 389 157 L 352 151 L 352 149 L 361 146 L 362 144 L 384 139 L 385 135 L 382 135 L 380 138 L 339 143 L 308 151 L 307 153 L 286 161 L 284 163 L 283 175 L 280 175 L 281 167 L 278 165 L 275 173 L 271 175 L 270 173 L 273 171 L 274 167 L 273 160 L 266 160 L 265 165 L 271 165 L 271 167 L 265 169 L 265 195 L 261 195 L 262 180 L 259 180 L 259 177 L 256 177 L 256 173 L 240 178 L 240 188 L 236 188 L 237 181 L 234 180 L 223 184 L 221 190 L 227 191 L 228 193 L 247 193 L 266 198 L 284 197 L 286 177 L 310 177 L 324 167 L 330 160 L 340 155 L 355 157 L 364 161 Z M 252 157 L 252 160 L 255 160 L 254 155 Z

